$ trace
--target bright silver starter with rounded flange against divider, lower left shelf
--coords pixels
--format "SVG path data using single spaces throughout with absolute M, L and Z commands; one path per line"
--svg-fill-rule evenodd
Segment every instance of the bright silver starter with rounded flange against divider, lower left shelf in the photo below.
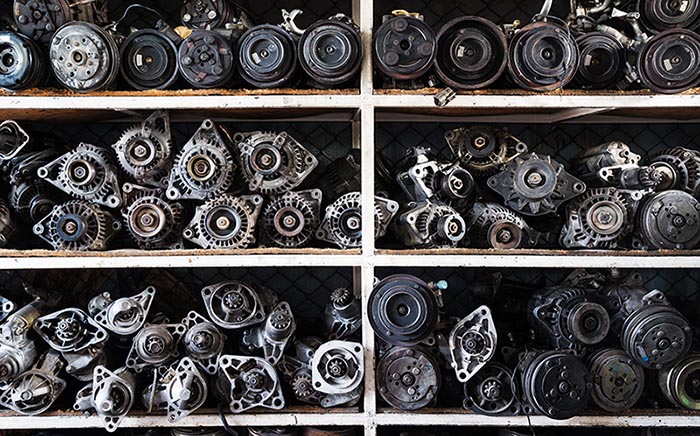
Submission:
M 359 398 L 365 374 L 363 351 L 357 342 L 329 341 L 318 347 L 311 363 L 314 389 L 324 394 L 352 394 Z

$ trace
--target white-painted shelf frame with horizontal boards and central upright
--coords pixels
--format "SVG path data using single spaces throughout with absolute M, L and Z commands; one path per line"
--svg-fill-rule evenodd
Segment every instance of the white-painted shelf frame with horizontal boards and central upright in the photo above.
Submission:
M 700 120 L 700 94 L 582 95 L 556 93 L 527 95 L 479 93 L 458 95 L 444 109 L 434 104 L 432 93 L 398 93 L 373 90 L 372 0 L 353 0 L 353 15 L 363 32 L 365 63 L 360 89 L 348 93 L 254 92 L 175 92 L 115 93 L 78 96 L 56 94 L 0 95 L 3 118 L 29 121 L 133 120 L 154 109 L 177 110 L 215 119 L 318 119 L 353 122 L 353 145 L 361 149 L 363 190 L 363 232 L 374 233 L 373 190 L 375 159 L 375 121 L 414 121 L 450 119 L 460 122 L 696 122 Z M 437 90 L 436 90 L 437 91 Z M 231 426 L 323 426 L 364 427 L 366 436 L 377 434 L 381 426 L 527 426 L 535 427 L 700 427 L 700 415 L 678 410 L 634 411 L 624 415 L 588 415 L 567 421 L 540 416 L 487 417 L 457 409 L 429 409 L 417 413 L 378 410 L 375 392 L 374 335 L 368 321 L 367 300 L 372 291 L 375 267 L 520 267 L 520 268 L 700 268 L 700 252 L 681 253 L 606 253 L 562 251 L 494 252 L 455 250 L 444 253 L 375 251 L 372 238 L 364 238 L 362 250 L 245 250 L 235 253 L 112 251 L 106 253 L 55 253 L 42 250 L 17 252 L 0 250 L 0 269 L 92 269 L 92 268 L 204 268 L 204 267 L 352 267 L 356 286 L 363 300 L 363 342 L 365 345 L 365 390 L 361 409 L 319 410 L 287 408 L 280 412 L 253 410 L 240 415 L 227 414 Z M 131 415 L 121 424 L 129 427 L 208 427 L 220 426 L 213 411 L 198 413 L 170 424 L 164 416 Z M 0 429 L 101 428 L 97 417 L 75 412 L 53 412 L 45 416 L 24 417 L 0 414 Z

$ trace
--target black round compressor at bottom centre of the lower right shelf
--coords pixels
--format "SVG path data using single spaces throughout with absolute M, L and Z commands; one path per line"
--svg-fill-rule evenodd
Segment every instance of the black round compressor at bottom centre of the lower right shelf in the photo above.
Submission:
M 580 415 L 593 388 L 586 365 L 565 351 L 526 353 L 516 377 L 525 414 L 558 420 Z

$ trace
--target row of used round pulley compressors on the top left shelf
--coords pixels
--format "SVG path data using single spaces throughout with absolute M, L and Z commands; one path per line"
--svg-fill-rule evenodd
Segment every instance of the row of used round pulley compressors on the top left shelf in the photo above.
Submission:
M 282 9 L 280 23 L 254 25 L 235 3 L 185 0 L 181 26 L 174 27 L 141 4 L 113 21 L 107 5 L 15 0 L 15 26 L 0 31 L 0 87 L 19 91 L 55 82 L 93 92 L 114 89 L 121 77 L 136 90 L 337 88 L 354 84 L 362 64 L 359 27 L 342 13 L 300 29 L 301 10 Z M 139 13 L 155 22 L 137 20 L 141 28 L 123 33 Z

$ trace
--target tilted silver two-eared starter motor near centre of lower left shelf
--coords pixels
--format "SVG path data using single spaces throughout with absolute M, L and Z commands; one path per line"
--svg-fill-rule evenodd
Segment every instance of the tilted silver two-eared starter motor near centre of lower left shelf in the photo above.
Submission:
M 184 324 L 146 324 L 134 337 L 126 367 L 141 372 L 178 357 L 178 344 L 185 334 Z

